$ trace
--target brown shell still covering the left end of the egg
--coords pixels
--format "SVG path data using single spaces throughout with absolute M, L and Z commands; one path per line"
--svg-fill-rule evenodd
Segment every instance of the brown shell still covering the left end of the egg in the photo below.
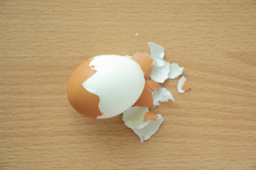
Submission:
M 83 62 L 75 69 L 68 80 L 67 93 L 68 101 L 78 113 L 89 118 L 97 118 L 97 116 L 102 115 L 99 109 L 100 98 L 82 86 L 86 79 L 97 72 L 89 66 L 92 60 L 93 58 Z

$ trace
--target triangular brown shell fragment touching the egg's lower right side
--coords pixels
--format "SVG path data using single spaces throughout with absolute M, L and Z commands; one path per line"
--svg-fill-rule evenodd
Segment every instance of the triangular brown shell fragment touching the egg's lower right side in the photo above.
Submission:
M 142 95 L 139 97 L 138 101 L 134 103 L 134 106 L 147 106 L 149 108 L 154 108 L 153 95 L 148 81 L 145 81 Z

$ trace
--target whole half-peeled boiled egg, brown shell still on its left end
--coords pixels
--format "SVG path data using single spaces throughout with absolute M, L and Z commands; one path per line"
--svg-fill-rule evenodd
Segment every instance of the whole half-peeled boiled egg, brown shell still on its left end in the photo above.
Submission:
M 99 55 L 80 64 L 68 80 L 68 100 L 89 118 L 112 118 L 131 108 L 144 89 L 144 72 L 132 57 Z

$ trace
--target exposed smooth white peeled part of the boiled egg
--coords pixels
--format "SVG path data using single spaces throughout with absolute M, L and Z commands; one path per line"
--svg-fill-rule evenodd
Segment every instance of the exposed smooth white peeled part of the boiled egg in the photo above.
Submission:
M 82 85 L 100 97 L 99 108 L 103 115 L 112 118 L 130 108 L 144 89 L 144 73 L 134 60 L 121 55 L 93 57 L 90 67 L 97 70 Z

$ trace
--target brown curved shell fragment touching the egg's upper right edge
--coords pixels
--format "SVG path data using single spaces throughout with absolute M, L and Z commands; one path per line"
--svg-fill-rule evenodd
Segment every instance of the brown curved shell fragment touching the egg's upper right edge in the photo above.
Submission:
M 134 55 L 132 55 L 132 60 L 140 65 L 142 71 L 144 72 L 144 78 L 148 79 L 153 69 L 154 60 L 143 52 L 135 52 Z

